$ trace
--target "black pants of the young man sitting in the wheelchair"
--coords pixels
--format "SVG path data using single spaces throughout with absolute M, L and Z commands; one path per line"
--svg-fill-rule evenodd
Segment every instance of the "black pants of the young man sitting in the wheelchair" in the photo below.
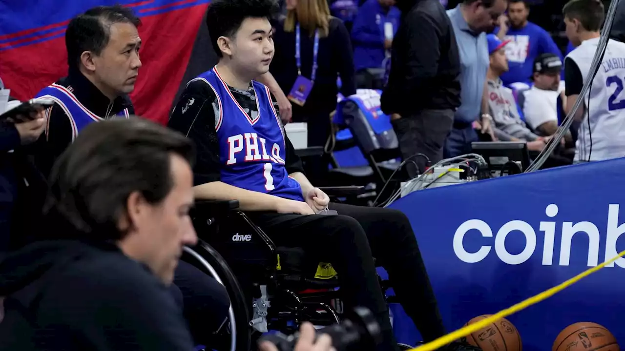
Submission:
M 330 204 L 339 215 L 248 213 L 276 245 L 301 247 L 332 264 L 346 308 L 371 309 L 382 327 L 379 350 L 396 350 L 388 309 L 372 257 L 387 270 L 392 287 L 424 340 L 445 334 L 412 227 L 392 209 Z

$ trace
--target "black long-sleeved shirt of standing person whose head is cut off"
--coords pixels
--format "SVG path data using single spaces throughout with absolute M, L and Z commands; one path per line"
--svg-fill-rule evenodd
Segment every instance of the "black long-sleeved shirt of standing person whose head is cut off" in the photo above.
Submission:
M 404 0 L 397 6 L 403 17 L 393 39 L 382 111 L 409 116 L 423 109 L 456 109 L 460 56 L 445 8 L 439 0 Z

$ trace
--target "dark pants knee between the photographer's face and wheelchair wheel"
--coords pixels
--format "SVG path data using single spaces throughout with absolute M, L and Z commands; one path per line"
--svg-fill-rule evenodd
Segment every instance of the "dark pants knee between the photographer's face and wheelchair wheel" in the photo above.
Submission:
M 226 320 L 230 307 L 226 288 L 193 265 L 180 261 L 171 292 L 183 308 L 194 342 L 211 346 L 211 334 Z

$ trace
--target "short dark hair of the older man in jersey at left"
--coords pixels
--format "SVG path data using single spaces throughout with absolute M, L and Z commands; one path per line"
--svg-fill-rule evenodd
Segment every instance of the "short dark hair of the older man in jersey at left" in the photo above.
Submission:
M 93 7 L 69 21 L 65 32 L 69 67 L 79 67 L 80 56 L 85 51 L 99 55 L 108 45 L 111 25 L 115 23 L 131 23 L 139 27 L 141 19 L 129 7 L 115 5 Z

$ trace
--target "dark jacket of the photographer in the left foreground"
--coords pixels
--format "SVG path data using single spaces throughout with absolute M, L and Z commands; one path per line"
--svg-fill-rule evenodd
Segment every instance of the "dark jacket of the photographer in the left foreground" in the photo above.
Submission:
M 191 351 L 167 287 L 113 244 L 40 241 L 0 262 L 0 350 Z

